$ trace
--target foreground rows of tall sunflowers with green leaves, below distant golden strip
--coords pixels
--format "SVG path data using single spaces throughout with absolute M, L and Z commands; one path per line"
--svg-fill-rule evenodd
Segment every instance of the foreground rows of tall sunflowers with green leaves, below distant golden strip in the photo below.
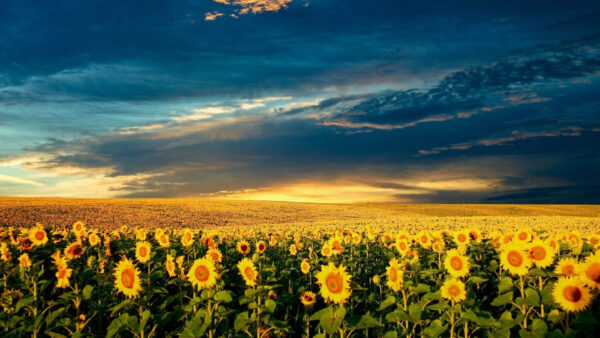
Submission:
M 600 237 L 363 228 L 0 233 L 2 336 L 595 336 Z

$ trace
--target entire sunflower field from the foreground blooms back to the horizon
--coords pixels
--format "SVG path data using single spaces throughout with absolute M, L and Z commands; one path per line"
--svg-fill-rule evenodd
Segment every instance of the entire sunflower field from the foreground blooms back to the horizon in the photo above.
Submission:
M 600 328 L 598 206 L 0 202 L 0 223 L 11 225 L 0 228 L 7 337 Z

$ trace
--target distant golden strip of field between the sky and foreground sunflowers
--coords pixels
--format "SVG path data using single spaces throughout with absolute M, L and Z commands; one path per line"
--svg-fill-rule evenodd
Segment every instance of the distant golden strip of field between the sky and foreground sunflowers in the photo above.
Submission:
M 522 226 L 597 232 L 598 205 L 485 204 L 316 204 L 207 199 L 0 198 L 0 225 L 36 223 L 70 226 L 76 221 L 97 229 L 130 227 L 380 228 L 419 231 Z M 225 229 L 223 229 L 225 230 Z

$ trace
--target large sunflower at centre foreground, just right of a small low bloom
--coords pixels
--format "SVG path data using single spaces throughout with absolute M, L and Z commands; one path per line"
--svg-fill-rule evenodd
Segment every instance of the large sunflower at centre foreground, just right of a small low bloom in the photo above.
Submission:
M 346 273 L 346 267 L 340 265 L 336 267 L 332 262 L 321 266 L 321 271 L 317 273 L 317 283 L 321 285 L 321 296 L 325 301 L 331 301 L 341 304 L 350 297 L 350 275 Z

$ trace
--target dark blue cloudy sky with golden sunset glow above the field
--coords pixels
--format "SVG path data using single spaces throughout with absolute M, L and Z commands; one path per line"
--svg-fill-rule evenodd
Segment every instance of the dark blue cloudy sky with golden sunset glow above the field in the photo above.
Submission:
M 2 1 L 0 196 L 600 203 L 598 1 Z

